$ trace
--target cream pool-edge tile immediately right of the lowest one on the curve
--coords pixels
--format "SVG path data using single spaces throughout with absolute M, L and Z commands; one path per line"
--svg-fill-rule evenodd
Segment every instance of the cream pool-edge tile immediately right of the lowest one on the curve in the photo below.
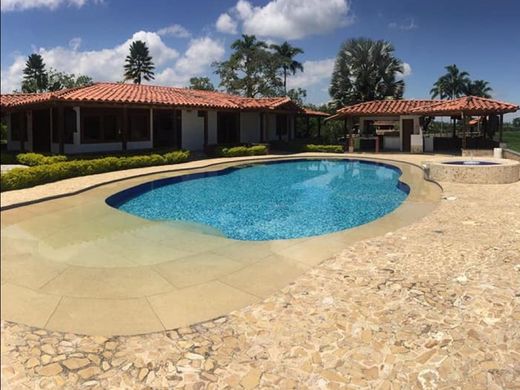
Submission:
M 148 298 L 166 329 L 175 329 L 228 314 L 258 298 L 221 282 L 209 282 Z

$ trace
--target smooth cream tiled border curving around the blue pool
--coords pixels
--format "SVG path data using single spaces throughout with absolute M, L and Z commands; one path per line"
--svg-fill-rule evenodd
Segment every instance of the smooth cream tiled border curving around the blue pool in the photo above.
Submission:
M 244 163 L 261 163 L 266 160 L 274 159 L 294 160 L 302 159 L 302 157 L 308 159 L 378 160 L 372 157 L 360 158 L 360 156 L 356 156 L 355 158 L 351 158 L 348 155 L 337 154 L 313 154 L 312 156 L 291 155 L 284 157 L 270 157 L 267 159 L 232 159 L 226 162 L 211 164 L 210 166 L 169 171 L 163 170 L 161 172 L 98 183 L 89 188 L 83 188 L 80 191 L 76 191 L 74 194 L 61 195 L 59 197 L 54 197 L 52 200 L 40 199 L 38 202 L 32 202 L 30 205 L 18 205 L 17 207 L 12 207 L 8 210 L 2 210 L 2 213 L 7 212 L 16 216 L 17 213 L 22 210 L 26 211 L 31 207 L 42 208 L 42 203 L 47 200 L 51 203 L 57 202 L 58 204 L 54 204 L 54 207 L 57 210 L 60 210 L 59 207 L 56 207 L 59 206 L 60 200 L 66 201 L 67 198 L 72 198 L 72 195 L 81 196 L 83 193 L 88 193 L 89 190 L 107 190 L 110 193 L 116 193 L 124 189 L 125 186 L 127 188 L 135 186 L 136 180 L 141 182 L 150 181 L 149 178 L 154 175 L 158 178 L 164 178 L 165 176 L 171 177 L 172 175 L 177 176 L 186 174 L 187 170 L 192 172 L 206 171 L 208 169 L 221 170 L 226 169 L 229 166 L 243 165 Z M 131 294 L 130 298 L 118 295 L 121 293 L 120 289 L 116 289 L 117 291 L 114 295 L 114 286 L 117 284 L 115 281 L 119 280 L 117 279 L 119 277 L 117 275 L 123 275 L 120 280 L 126 282 L 130 280 L 130 282 L 128 282 L 130 284 L 133 281 L 134 284 L 139 284 L 139 288 L 145 288 L 146 290 L 147 286 L 146 283 L 141 280 L 141 275 L 145 275 L 146 272 L 149 271 L 149 273 L 151 272 L 154 274 L 149 276 L 149 278 L 157 280 L 155 278 L 155 273 L 158 273 L 162 279 L 171 282 L 171 279 L 168 279 L 171 277 L 171 273 L 170 276 L 168 276 L 168 270 L 161 271 L 161 269 L 167 269 L 168 267 L 173 267 L 175 269 L 179 262 L 184 261 L 185 257 L 181 257 L 180 260 L 176 259 L 168 262 L 139 265 L 137 270 L 135 268 L 132 269 L 132 267 L 121 266 L 119 268 L 110 268 L 112 271 L 107 271 L 108 268 L 100 268 L 99 264 L 92 265 L 92 263 L 90 263 L 91 260 L 88 260 L 85 264 L 71 265 L 66 263 L 64 270 L 60 269 L 60 272 L 54 272 L 52 277 L 49 276 L 49 280 L 43 284 L 43 287 L 36 286 L 36 288 L 33 288 L 34 286 L 31 286 L 28 282 L 26 283 L 23 279 L 23 275 L 27 275 L 27 272 L 30 272 L 30 270 L 15 270 L 19 273 L 25 273 L 23 275 L 15 275 L 12 280 L 2 280 L 2 289 L 5 290 L 2 294 L 2 318 L 50 330 L 66 331 L 78 334 L 144 334 L 175 329 L 217 318 L 226 315 L 233 310 L 259 302 L 294 281 L 297 277 L 309 271 L 314 266 L 335 256 L 352 243 L 389 233 L 400 227 L 407 226 L 426 216 L 437 207 L 440 201 L 442 187 L 440 187 L 438 183 L 427 180 L 424 177 L 424 170 L 419 165 L 397 160 L 381 160 L 383 160 L 385 164 L 392 162 L 390 165 L 397 166 L 397 168 L 401 170 L 402 175 L 399 180 L 410 186 L 411 193 L 397 209 L 375 221 L 351 229 L 329 233 L 322 236 L 307 237 L 304 239 L 239 242 L 237 240 L 222 238 L 222 240 L 225 240 L 229 244 L 223 245 L 223 248 L 216 248 L 214 250 L 208 249 L 203 253 L 195 254 L 195 261 L 200 261 L 204 256 L 213 256 L 215 254 L 218 256 L 224 256 L 228 260 L 237 260 L 237 257 L 242 259 L 243 256 L 251 257 L 255 251 L 256 253 L 265 251 L 268 255 L 259 259 L 253 259 L 254 261 L 246 259 L 245 262 L 247 264 L 244 267 L 241 267 L 238 270 L 233 270 L 223 276 L 220 275 L 215 278 L 210 278 L 201 283 L 195 283 L 184 287 L 175 286 L 172 283 L 174 289 L 171 291 L 166 291 L 168 287 L 166 285 L 164 291 L 157 292 L 154 290 L 154 293 L 150 293 L 150 289 L 153 290 L 155 286 L 148 286 L 149 289 L 147 292 L 140 293 L 141 295 L 132 295 L 134 294 L 134 291 L 125 290 L 125 293 L 128 292 Z M 416 181 L 416 184 L 413 183 L 414 180 Z M 417 184 L 420 184 L 420 186 Z M 115 185 L 119 187 L 119 189 L 102 189 L 103 186 L 110 187 L 111 185 Z M 424 192 L 418 193 L 418 188 L 420 188 L 420 191 L 423 191 L 427 190 L 427 187 L 432 191 L 432 193 L 428 193 L 428 191 L 426 191 L 426 194 Z M 99 197 L 98 199 L 95 194 L 94 199 L 95 202 L 104 202 L 104 198 L 101 199 Z M 74 199 L 72 198 L 72 200 Z M 49 203 L 49 206 L 52 205 Z M 110 208 L 108 205 L 105 206 Z M 115 209 L 113 209 L 113 211 L 121 213 Z M 139 217 L 132 218 L 141 220 Z M 125 216 L 123 217 L 123 220 L 132 222 L 132 218 Z M 89 221 L 82 221 L 82 223 L 88 224 Z M 48 226 L 48 224 L 45 224 L 45 226 Z M 71 227 L 66 226 L 61 230 L 66 231 L 65 234 L 67 234 L 68 231 L 71 230 Z M 205 236 L 202 239 L 208 240 L 208 236 Z M 128 241 L 128 243 L 131 244 L 131 241 Z M 246 244 L 244 245 L 242 243 Z M 203 245 L 209 244 L 204 243 Z M 244 255 L 244 253 L 246 255 Z M 255 254 L 255 256 L 257 255 Z M 4 261 L 3 258 L 2 260 Z M 3 263 L 3 265 L 7 265 L 8 267 L 12 266 L 8 259 Z M 51 268 L 55 266 L 51 263 L 48 265 Z M 60 264 L 60 266 L 61 265 L 62 264 Z M 34 266 L 33 263 L 29 262 L 29 268 Z M 38 264 L 37 266 L 41 267 L 42 265 Z M 7 271 L 10 270 L 7 268 Z M 45 269 L 42 270 L 42 274 L 45 274 L 45 271 Z M 3 269 L 3 273 L 5 272 L 6 270 Z M 14 273 L 16 274 L 16 272 Z M 166 272 L 166 274 L 164 274 L 164 272 Z M 72 277 L 67 273 L 75 276 Z M 11 274 L 13 273 L 11 272 Z M 238 277 L 237 275 L 245 276 Z M 63 279 L 68 277 L 72 279 L 61 281 L 61 285 L 58 283 L 60 278 Z M 97 286 L 96 279 L 99 279 L 100 277 L 108 278 L 108 280 L 111 281 L 111 285 L 105 286 L 107 292 L 96 291 L 95 289 Z M 86 286 L 86 291 L 90 291 L 88 294 L 91 295 L 85 295 L 87 293 L 84 294 L 83 291 L 77 291 L 77 286 L 80 286 L 80 289 L 81 286 Z M 5 296 L 9 296 L 10 299 L 5 299 Z M 202 299 L 204 302 L 201 302 L 201 296 L 205 297 Z M 134 300 L 134 302 L 129 302 L 129 300 Z M 211 303 L 212 300 L 216 300 L 215 305 Z M 38 318 L 29 315 L 29 313 L 31 313 L 31 308 L 35 304 L 41 306 L 39 309 L 40 316 Z M 172 309 L 174 309 L 174 314 L 172 314 Z M 177 314 L 175 314 L 176 310 Z M 193 314 L 193 311 L 197 312 L 197 310 L 199 313 L 196 313 L 196 315 Z M 134 318 L 137 313 L 141 313 L 140 315 L 143 318 L 139 320 L 142 321 L 141 323 L 133 324 L 133 322 L 137 321 Z M 112 322 L 109 323 L 110 321 L 107 321 L 106 319 L 107 316 L 119 317 L 111 319 L 110 321 Z M 93 323 L 96 322 L 104 322 L 104 324 L 97 324 L 94 326 Z

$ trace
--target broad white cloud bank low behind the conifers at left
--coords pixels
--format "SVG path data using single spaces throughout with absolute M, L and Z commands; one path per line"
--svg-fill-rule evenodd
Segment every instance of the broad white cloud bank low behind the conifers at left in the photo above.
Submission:
M 85 74 L 95 81 L 120 81 L 123 79 L 123 65 L 129 46 L 135 40 L 144 41 L 150 49 L 156 67 L 153 83 L 160 85 L 186 85 L 190 77 L 209 74 L 209 65 L 221 60 L 225 51 L 221 42 L 203 37 L 190 41 L 186 52 L 180 55 L 177 50 L 167 46 L 157 33 L 146 31 L 134 33 L 130 39 L 113 48 L 80 51 L 79 45 L 69 45 L 36 51 L 42 55 L 47 69 Z M 26 60 L 26 56 L 17 54 L 11 65 L 2 69 L 2 92 L 20 89 Z

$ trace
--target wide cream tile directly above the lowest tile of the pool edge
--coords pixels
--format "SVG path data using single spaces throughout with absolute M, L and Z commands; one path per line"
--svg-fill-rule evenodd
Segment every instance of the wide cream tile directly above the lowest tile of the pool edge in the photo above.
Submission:
M 174 287 L 148 267 L 69 267 L 42 291 L 76 298 L 138 298 L 171 291 Z

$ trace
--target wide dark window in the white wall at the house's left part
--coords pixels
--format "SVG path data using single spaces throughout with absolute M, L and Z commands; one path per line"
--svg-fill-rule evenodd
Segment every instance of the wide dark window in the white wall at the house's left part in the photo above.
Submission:
M 120 111 L 117 109 L 83 109 L 81 111 L 83 143 L 117 142 L 120 129 Z

